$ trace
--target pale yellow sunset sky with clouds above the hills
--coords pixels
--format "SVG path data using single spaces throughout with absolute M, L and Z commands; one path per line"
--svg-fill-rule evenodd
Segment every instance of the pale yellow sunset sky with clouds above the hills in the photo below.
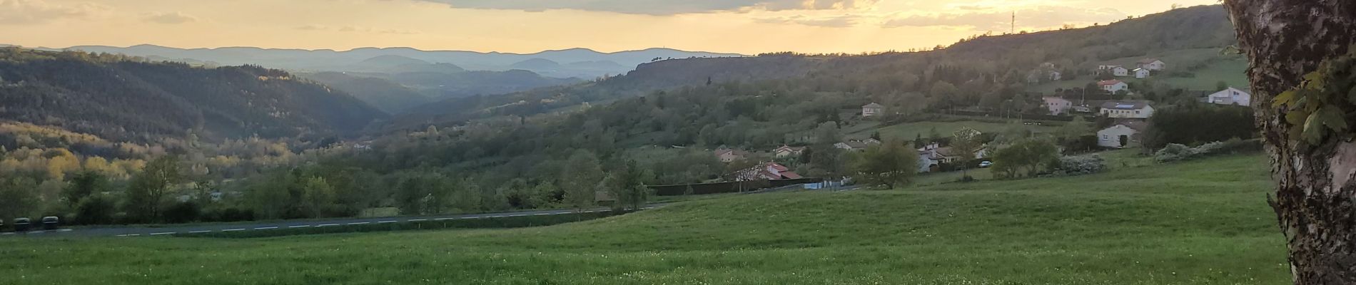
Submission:
M 0 0 L 0 43 L 865 53 L 1218 0 Z

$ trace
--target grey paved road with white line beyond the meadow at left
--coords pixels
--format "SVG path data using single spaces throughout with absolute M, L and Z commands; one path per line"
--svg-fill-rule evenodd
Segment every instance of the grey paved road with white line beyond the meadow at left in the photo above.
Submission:
M 651 209 L 658 207 L 664 207 L 667 204 L 651 204 L 643 209 Z M 609 209 L 590 209 L 584 212 L 606 212 Z M 155 235 L 174 235 L 174 234 L 201 234 L 201 232 L 214 232 L 214 231 L 267 231 L 278 228 L 302 228 L 302 227 L 338 227 L 338 226 L 357 226 L 357 224 L 384 224 L 384 223 L 410 223 L 410 222 L 426 222 L 426 220 L 460 220 L 460 219 L 494 219 L 494 217 L 510 217 L 510 216 L 545 216 L 545 215 L 565 215 L 575 213 L 575 209 L 544 209 L 544 211 L 525 211 L 525 212 L 502 212 L 502 213 L 471 213 L 471 215 L 434 215 L 434 216 L 399 216 L 399 217 L 348 217 L 348 219 L 331 219 L 331 220 L 279 220 L 279 222 L 259 222 L 259 223 L 233 223 L 233 224 L 186 224 L 186 226 L 165 226 L 165 227 L 88 227 L 88 228 L 61 228 L 53 231 L 28 231 L 28 232 L 0 232 L 0 238 L 5 236 L 155 236 Z

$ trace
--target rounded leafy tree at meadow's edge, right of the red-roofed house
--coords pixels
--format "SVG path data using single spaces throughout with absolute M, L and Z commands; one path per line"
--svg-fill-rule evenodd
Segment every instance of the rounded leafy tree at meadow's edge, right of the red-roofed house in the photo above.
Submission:
M 856 180 L 866 184 L 885 188 L 904 185 L 918 174 L 918 151 L 895 140 L 869 146 L 853 158 L 852 172 Z

